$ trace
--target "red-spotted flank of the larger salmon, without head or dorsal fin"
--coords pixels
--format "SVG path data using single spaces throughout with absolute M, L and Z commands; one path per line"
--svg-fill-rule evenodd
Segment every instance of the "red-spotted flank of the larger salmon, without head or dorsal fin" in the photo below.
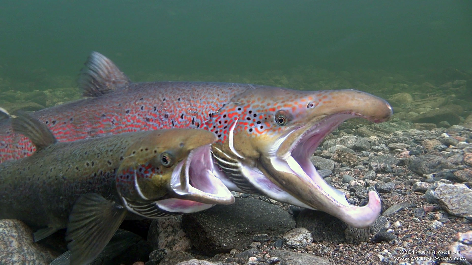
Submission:
M 81 99 L 31 114 L 58 141 L 164 128 L 202 128 L 212 113 L 253 85 L 231 83 L 132 83 L 106 95 Z M 33 154 L 32 142 L 16 135 L 11 121 L 0 126 L 0 162 Z

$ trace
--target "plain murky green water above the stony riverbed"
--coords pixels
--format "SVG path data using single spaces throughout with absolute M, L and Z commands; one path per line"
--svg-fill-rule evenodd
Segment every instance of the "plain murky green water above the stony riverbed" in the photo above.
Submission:
M 2 0 L 1 76 L 78 73 L 91 50 L 126 73 L 315 66 L 418 70 L 472 62 L 471 1 Z

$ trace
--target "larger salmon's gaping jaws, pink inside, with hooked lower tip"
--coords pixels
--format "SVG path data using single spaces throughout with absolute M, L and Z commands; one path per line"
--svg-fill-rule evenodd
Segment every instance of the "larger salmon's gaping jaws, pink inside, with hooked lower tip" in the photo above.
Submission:
M 327 212 L 354 227 L 362 228 L 370 226 L 377 219 L 381 208 L 379 195 L 375 191 L 370 191 L 366 206 L 350 205 L 345 194 L 326 183 L 310 161 L 320 142 L 339 124 L 353 117 L 362 116 L 355 113 L 339 113 L 327 116 L 316 124 L 307 124 L 295 129 L 293 132 L 299 136 L 295 140 L 287 137 L 285 141 L 292 141 L 289 143 L 290 148 L 285 154 L 270 157 L 273 171 L 269 171 L 274 179 L 302 204 Z

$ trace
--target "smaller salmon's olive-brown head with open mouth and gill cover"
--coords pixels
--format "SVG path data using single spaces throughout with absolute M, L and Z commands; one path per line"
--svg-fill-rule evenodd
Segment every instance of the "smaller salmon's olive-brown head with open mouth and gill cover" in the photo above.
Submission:
M 147 214 L 191 213 L 233 203 L 231 192 L 217 177 L 198 170 L 199 164 L 213 163 L 210 144 L 216 140 L 213 132 L 202 129 L 143 133 L 126 150 L 117 171 L 116 185 L 126 207 L 152 217 Z

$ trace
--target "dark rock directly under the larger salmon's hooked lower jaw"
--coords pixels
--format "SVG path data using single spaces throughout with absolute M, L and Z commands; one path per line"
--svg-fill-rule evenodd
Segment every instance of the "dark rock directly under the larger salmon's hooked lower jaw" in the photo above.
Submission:
M 297 216 L 297 227 L 312 232 L 313 241 L 359 243 L 369 239 L 369 228 L 354 228 L 324 212 L 303 209 Z

